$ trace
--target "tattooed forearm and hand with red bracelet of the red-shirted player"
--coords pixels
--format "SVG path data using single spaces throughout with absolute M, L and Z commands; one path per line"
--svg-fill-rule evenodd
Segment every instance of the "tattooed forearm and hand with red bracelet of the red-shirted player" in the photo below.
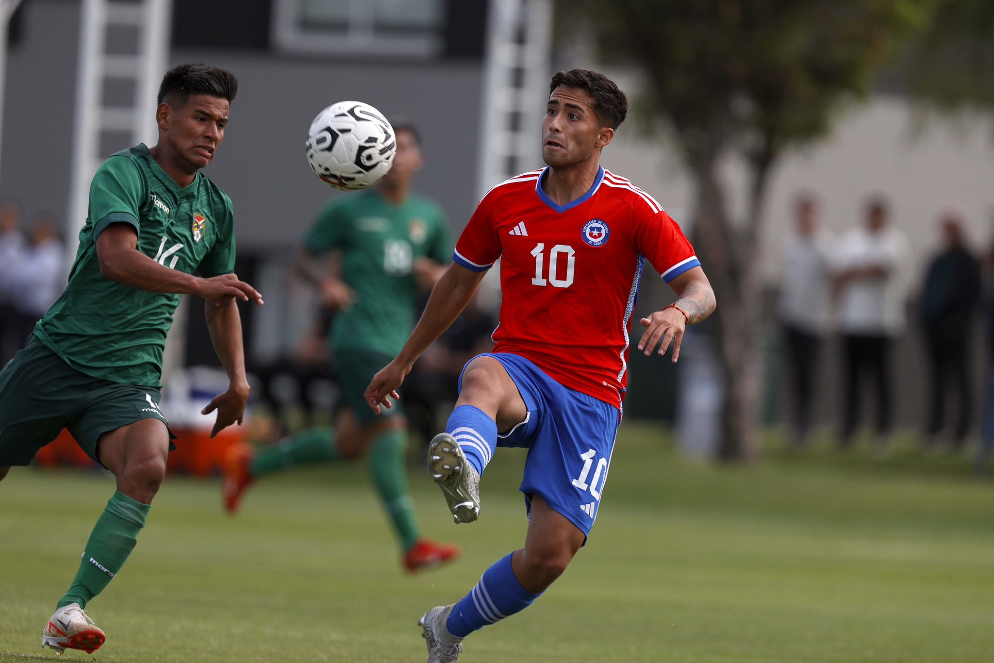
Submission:
M 662 355 L 673 343 L 673 363 L 680 358 L 680 344 L 687 325 L 701 322 L 715 311 L 715 291 L 699 266 L 673 278 L 670 287 L 677 293 L 677 300 L 661 311 L 642 318 L 645 332 L 638 341 L 638 349 L 648 357 L 659 343 Z M 662 343 L 660 343 L 662 339 Z

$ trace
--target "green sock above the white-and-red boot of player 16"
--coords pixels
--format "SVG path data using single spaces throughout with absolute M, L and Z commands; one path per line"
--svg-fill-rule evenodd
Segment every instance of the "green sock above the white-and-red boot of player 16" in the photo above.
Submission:
M 56 608 L 70 603 L 85 607 L 86 601 L 107 586 L 131 554 L 150 507 L 114 491 L 86 542 L 80 571 Z

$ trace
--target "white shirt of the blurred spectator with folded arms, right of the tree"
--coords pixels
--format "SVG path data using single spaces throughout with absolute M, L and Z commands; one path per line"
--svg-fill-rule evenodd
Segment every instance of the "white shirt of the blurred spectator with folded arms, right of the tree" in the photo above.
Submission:
M 904 332 L 905 270 L 909 242 L 905 235 L 885 227 L 871 233 L 863 227 L 843 235 L 839 245 L 840 270 L 880 265 L 883 276 L 853 278 L 839 296 L 839 330 L 844 334 L 897 336 Z

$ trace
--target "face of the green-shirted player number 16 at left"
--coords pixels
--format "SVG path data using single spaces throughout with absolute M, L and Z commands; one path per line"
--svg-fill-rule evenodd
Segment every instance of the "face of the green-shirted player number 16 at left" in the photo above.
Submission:
M 210 94 L 191 94 L 178 107 L 163 102 L 158 114 L 162 139 L 192 170 L 204 168 L 225 138 L 230 108 L 228 99 Z

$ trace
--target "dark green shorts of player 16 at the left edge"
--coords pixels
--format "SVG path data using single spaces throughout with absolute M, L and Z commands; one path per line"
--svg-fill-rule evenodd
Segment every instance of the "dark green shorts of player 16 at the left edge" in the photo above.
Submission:
M 38 449 L 69 428 L 86 455 L 108 430 L 157 418 L 159 390 L 107 382 L 80 373 L 32 334 L 0 371 L 0 467 L 27 465 Z M 175 439 L 169 431 L 170 440 Z M 170 441 L 170 450 L 176 446 Z

